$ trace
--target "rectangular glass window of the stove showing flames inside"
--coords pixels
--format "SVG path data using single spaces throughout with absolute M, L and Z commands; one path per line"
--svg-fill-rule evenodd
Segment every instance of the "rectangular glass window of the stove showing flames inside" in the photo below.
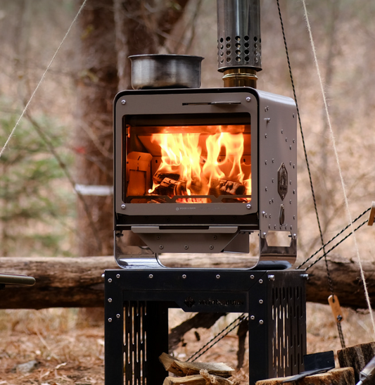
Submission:
M 251 201 L 250 115 L 125 115 L 123 201 Z

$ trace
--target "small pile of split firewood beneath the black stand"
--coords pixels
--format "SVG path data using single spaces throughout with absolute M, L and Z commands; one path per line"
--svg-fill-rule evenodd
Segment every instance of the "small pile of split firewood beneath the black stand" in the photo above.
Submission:
M 165 370 L 178 376 L 166 377 L 163 385 L 236 385 L 229 379 L 234 369 L 222 362 L 182 362 L 166 353 L 159 360 Z

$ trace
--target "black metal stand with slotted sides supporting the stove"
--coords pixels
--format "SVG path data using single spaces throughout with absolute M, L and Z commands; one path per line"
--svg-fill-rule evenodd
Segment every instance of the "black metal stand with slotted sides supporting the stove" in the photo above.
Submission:
M 125 269 L 105 277 L 106 385 L 163 384 L 168 308 L 248 313 L 250 384 L 303 371 L 303 271 Z

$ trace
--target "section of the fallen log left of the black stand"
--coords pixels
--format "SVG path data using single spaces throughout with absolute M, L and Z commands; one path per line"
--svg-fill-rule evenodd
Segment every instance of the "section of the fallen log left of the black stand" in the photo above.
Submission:
M 106 269 L 118 267 L 113 257 L 1 257 L 0 270 L 27 274 L 34 286 L 6 286 L 1 309 L 103 307 Z

